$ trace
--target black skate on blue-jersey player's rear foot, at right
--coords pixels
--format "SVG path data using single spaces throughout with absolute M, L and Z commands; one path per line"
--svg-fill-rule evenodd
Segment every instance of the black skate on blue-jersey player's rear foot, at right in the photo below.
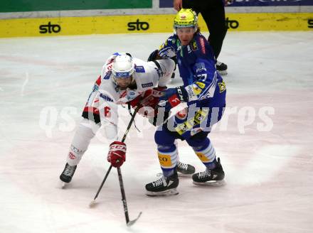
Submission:
M 216 168 L 209 170 L 206 168 L 201 173 L 195 173 L 192 176 L 193 183 L 195 185 L 223 185 L 225 173 L 223 171 L 220 158 L 216 163 Z

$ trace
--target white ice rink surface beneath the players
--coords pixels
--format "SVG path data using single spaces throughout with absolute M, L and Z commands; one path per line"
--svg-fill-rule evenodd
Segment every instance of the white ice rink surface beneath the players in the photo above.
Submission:
M 147 59 L 169 34 L 0 39 L 0 232 L 313 232 L 313 33 L 228 33 L 227 111 L 210 139 L 226 185 L 180 178 L 179 195 L 147 197 L 157 179 L 154 128 L 137 116 L 122 175 L 131 228 L 124 222 L 117 171 L 92 209 L 109 163 L 99 132 L 62 190 L 58 176 L 93 82 L 117 51 Z M 171 85 L 180 85 L 179 73 Z M 120 110 L 120 136 L 129 121 Z M 186 142 L 181 161 L 204 170 Z

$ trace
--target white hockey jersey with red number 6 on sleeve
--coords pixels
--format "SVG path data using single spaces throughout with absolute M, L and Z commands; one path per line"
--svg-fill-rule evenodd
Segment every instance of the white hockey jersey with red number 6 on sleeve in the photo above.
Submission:
M 108 139 L 114 138 L 117 134 L 117 104 L 126 104 L 138 97 L 139 94 L 153 87 L 166 86 L 175 67 L 174 61 L 169 58 L 158 60 L 159 67 L 154 62 L 145 62 L 138 58 L 133 58 L 135 71 L 132 77 L 137 87 L 120 90 L 112 80 L 111 70 L 115 57 L 116 55 L 112 55 L 102 67 L 101 77 L 95 82 L 84 109 L 84 112 L 99 114 Z

